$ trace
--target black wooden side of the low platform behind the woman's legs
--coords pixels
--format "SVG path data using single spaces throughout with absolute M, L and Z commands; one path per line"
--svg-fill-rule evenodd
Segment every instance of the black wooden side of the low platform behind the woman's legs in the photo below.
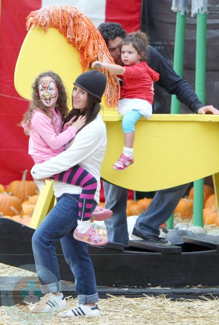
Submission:
M 10 219 L 0 218 L 0 262 L 34 269 L 31 238 L 34 229 Z M 13 243 L 12 245 L 12 234 Z M 215 237 L 214 240 L 218 241 Z M 209 236 L 209 242 L 211 242 Z M 206 243 L 206 238 L 205 238 Z M 142 245 L 142 243 L 140 244 Z M 98 286 L 123 288 L 184 288 L 219 286 L 219 251 L 195 243 L 173 245 L 179 252 L 162 253 L 148 247 L 109 243 L 105 247 L 89 246 Z M 61 245 L 56 243 L 61 279 L 74 282 Z

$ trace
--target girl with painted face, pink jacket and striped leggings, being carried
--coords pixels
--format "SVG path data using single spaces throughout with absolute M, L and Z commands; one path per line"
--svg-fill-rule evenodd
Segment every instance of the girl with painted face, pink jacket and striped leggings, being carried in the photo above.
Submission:
M 65 144 L 75 138 L 76 134 L 85 126 L 87 117 L 81 113 L 72 117 L 63 126 L 63 121 L 69 111 L 65 88 L 57 74 L 53 72 L 40 74 L 35 79 L 32 89 L 32 103 L 24 114 L 20 125 L 24 128 L 24 132 L 29 135 L 29 154 L 35 164 L 40 164 L 63 152 Z M 83 105 L 86 106 L 87 94 L 84 95 L 84 99 Z M 107 243 L 106 237 L 93 233 L 93 231 L 92 235 L 87 236 L 87 233 L 93 230 L 90 224 L 90 216 L 97 188 L 96 178 L 79 165 L 56 174 L 52 178 L 82 187 L 82 193 L 79 197 L 77 232 L 84 238 L 83 241 L 91 245 L 105 245 Z M 94 210 L 92 213 L 92 217 L 99 218 L 99 220 L 103 220 L 105 215 L 111 216 L 111 210 L 102 209 L 96 212 Z

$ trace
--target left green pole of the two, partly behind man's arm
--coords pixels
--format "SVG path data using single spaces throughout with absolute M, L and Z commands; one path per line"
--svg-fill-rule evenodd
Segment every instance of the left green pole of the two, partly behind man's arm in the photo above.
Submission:
M 176 13 L 176 29 L 175 29 L 175 45 L 173 56 L 173 69 L 182 77 L 184 67 L 184 48 L 185 48 L 185 31 L 186 31 L 186 14 L 181 15 L 181 11 Z M 176 99 L 175 95 L 171 98 L 171 114 L 180 114 L 181 103 Z M 167 228 L 173 228 L 174 213 L 166 222 Z

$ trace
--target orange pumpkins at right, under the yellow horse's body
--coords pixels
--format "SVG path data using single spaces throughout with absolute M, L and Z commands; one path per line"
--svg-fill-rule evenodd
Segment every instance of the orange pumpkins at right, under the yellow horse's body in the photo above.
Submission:
M 193 217 L 193 204 L 194 204 L 194 187 L 190 189 L 189 196 L 180 199 L 177 207 L 174 210 L 174 215 L 182 219 Z M 127 217 L 132 215 L 139 215 L 146 211 L 152 199 L 144 198 L 137 201 L 128 200 L 127 202 Z M 204 185 L 204 198 L 203 198 L 203 223 L 215 224 L 219 226 L 219 219 L 217 215 L 217 205 L 214 189 L 211 185 Z

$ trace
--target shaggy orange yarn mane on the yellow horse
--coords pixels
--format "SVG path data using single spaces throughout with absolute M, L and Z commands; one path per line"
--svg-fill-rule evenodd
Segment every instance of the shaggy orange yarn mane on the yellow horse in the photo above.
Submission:
M 32 11 L 27 16 L 27 30 L 33 25 L 37 28 L 43 27 L 45 32 L 49 27 L 58 29 L 67 42 L 79 51 L 83 72 L 88 71 L 91 63 L 96 60 L 114 63 L 97 27 L 75 7 L 50 5 Z M 105 104 L 108 107 L 117 107 L 119 100 L 118 79 L 115 74 L 105 69 L 102 69 L 102 72 L 107 77 L 104 92 Z

